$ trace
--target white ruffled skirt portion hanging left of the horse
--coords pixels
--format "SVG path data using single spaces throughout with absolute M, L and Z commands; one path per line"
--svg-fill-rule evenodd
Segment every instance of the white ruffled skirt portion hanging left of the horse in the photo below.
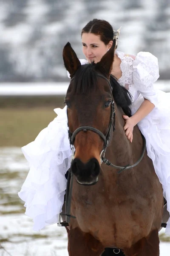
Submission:
M 33 142 L 22 148 L 30 171 L 18 195 L 25 201 L 26 215 L 34 220 L 35 231 L 57 223 L 58 214 L 62 212 L 65 173 L 72 156 L 66 109 L 55 109 L 58 116 Z

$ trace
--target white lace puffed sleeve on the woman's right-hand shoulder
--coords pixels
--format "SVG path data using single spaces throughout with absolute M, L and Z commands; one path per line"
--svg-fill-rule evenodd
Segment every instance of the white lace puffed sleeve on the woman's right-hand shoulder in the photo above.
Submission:
M 153 83 L 159 78 L 158 59 L 150 52 L 139 52 L 133 62 L 133 85 L 155 106 L 159 103 L 158 90 Z

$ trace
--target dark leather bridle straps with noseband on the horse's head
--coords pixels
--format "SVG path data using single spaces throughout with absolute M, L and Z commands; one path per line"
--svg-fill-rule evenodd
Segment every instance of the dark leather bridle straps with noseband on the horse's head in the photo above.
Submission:
M 105 77 L 105 76 L 102 76 L 100 74 L 97 74 L 97 76 L 99 77 L 102 77 L 103 79 L 105 79 L 108 84 L 109 84 L 109 87 L 111 88 L 111 91 L 112 91 L 112 87 L 111 87 L 111 83 L 110 81 Z M 74 79 L 74 77 L 71 79 L 71 81 Z M 114 107 L 114 102 L 112 101 L 111 102 L 111 115 L 110 115 L 110 121 L 109 121 L 109 125 L 108 125 L 108 131 L 106 132 L 106 135 L 104 135 L 101 131 L 99 131 L 98 129 L 94 128 L 93 126 L 80 126 L 79 128 L 77 128 L 74 133 L 72 134 L 71 131 L 69 130 L 69 127 L 68 127 L 68 138 L 69 138 L 69 141 L 70 141 L 70 145 L 71 145 L 71 150 L 73 152 L 73 156 L 74 156 L 74 140 L 75 140 L 75 137 L 76 135 L 80 132 L 80 131 L 84 131 L 84 132 L 87 132 L 87 131 L 93 131 L 94 133 L 98 134 L 102 140 L 104 141 L 104 145 L 103 145 L 103 148 L 102 148 L 102 151 L 101 151 L 101 154 L 100 154 L 100 157 L 101 157 L 101 163 L 102 163 L 102 154 L 103 154 L 103 157 L 105 156 L 105 151 L 106 151 L 106 148 L 108 147 L 108 144 L 110 142 L 110 139 L 111 139 L 111 127 L 113 126 L 113 131 L 115 131 L 115 107 Z

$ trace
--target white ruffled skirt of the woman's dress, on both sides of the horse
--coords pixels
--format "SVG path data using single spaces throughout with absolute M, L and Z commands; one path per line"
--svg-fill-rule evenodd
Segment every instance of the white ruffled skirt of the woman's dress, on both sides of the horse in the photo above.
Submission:
M 146 138 L 147 154 L 153 160 L 170 212 L 170 94 L 160 91 L 159 96 L 159 106 L 138 126 Z M 139 96 L 133 103 L 132 113 L 137 111 L 143 100 Z M 66 107 L 54 111 L 58 116 L 35 141 L 22 148 L 30 163 L 30 171 L 18 195 L 26 202 L 26 215 L 34 220 L 35 231 L 58 222 L 67 183 L 65 173 L 71 165 Z M 166 232 L 170 232 L 170 220 Z

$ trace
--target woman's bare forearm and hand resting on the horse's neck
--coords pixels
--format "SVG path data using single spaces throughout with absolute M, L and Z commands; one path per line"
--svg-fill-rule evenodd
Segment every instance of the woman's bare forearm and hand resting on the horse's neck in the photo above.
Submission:
M 123 116 L 125 119 L 125 134 L 130 142 L 133 140 L 133 127 L 137 125 L 137 123 L 140 122 L 145 116 L 147 116 L 154 107 L 155 105 L 152 102 L 150 102 L 148 99 L 144 99 L 144 102 L 142 102 L 141 106 L 133 116 Z

